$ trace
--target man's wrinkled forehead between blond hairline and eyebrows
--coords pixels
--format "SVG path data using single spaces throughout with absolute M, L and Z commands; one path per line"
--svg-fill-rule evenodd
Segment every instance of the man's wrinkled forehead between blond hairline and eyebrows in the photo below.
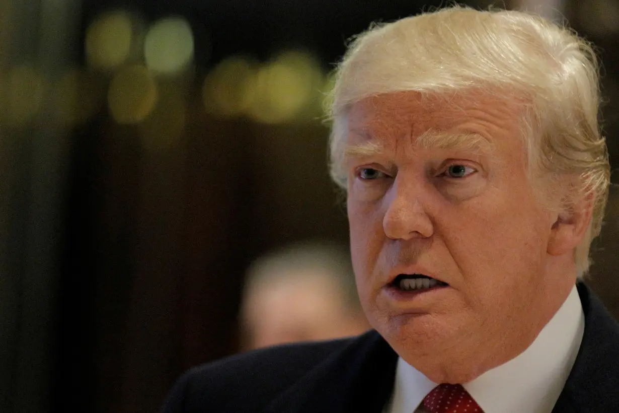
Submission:
M 352 105 L 347 113 L 348 155 L 409 143 L 437 149 L 491 152 L 493 132 L 519 135 L 523 101 L 473 91 L 448 97 L 386 93 Z M 371 143 L 368 143 L 371 142 Z M 353 147 L 357 147 L 356 149 Z M 360 150 L 357 150 L 360 149 Z

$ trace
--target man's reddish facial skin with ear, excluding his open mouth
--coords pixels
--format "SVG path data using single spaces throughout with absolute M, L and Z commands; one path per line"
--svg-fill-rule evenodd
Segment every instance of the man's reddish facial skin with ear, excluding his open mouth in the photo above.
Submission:
M 347 209 L 361 305 L 436 383 L 465 383 L 516 357 L 576 280 L 573 251 L 591 208 L 563 215 L 540 205 L 520 107 L 480 93 L 398 92 L 348 111 Z M 404 293 L 391 285 L 398 274 L 448 287 Z

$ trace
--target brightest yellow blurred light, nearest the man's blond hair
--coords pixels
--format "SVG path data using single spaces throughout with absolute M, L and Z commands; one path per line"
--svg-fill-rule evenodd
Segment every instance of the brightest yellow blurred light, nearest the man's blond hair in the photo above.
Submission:
M 258 72 L 249 116 L 271 124 L 299 119 L 318 98 L 321 82 L 321 67 L 314 56 L 301 51 L 282 53 Z

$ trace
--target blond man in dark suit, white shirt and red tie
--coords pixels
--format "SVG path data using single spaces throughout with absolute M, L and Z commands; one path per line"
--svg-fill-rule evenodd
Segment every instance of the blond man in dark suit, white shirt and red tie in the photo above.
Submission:
M 609 181 L 591 47 L 452 7 L 360 35 L 333 93 L 375 331 L 197 368 L 165 411 L 619 411 L 619 328 L 577 281 Z

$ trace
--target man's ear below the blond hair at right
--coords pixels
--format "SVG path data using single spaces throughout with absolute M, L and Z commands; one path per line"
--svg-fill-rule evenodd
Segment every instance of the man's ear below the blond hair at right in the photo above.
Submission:
M 593 195 L 587 194 L 556 215 L 556 220 L 550 228 L 548 254 L 558 256 L 573 253 L 574 248 L 589 230 L 593 207 Z

